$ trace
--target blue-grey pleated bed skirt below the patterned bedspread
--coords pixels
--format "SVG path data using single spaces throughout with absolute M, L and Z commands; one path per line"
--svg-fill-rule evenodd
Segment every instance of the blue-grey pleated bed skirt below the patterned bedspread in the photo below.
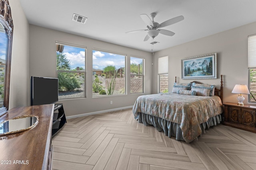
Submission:
M 176 140 L 185 141 L 183 139 L 182 130 L 180 129 L 180 124 L 173 123 L 167 120 L 164 120 L 160 117 L 155 117 L 152 115 L 148 115 L 145 113 L 136 113 L 135 117 L 139 123 L 143 123 L 146 126 L 153 125 L 158 131 L 164 131 L 164 134 L 168 137 L 176 137 Z M 221 115 L 216 115 L 215 117 L 210 117 L 208 121 L 200 124 L 202 133 L 205 133 L 206 128 L 210 128 L 210 126 L 217 125 L 221 121 Z M 201 134 L 202 135 L 202 134 Z M 200 136 L 201 136 L 200 135 Z M 197 138 L 196 138 L 197 139 Z

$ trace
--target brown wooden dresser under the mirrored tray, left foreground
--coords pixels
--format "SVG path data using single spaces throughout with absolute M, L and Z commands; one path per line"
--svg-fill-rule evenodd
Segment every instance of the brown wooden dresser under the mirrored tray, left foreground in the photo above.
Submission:
M 52 165 L 54 105 L 18 107 L 0 116 L 0 122 L 20 115 L 36 115 L 39 121 L 27 131 L 0 136 L 1 170 L 47 170 Z

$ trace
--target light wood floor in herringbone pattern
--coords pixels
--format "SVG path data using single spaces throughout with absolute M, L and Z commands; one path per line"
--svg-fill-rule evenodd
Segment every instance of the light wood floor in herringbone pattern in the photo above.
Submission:
M 55 170 L 256 170 L 256 134 L 217 125 L 198 141 L 138 123 L 132 109 L 68 119 L 53 138 Z

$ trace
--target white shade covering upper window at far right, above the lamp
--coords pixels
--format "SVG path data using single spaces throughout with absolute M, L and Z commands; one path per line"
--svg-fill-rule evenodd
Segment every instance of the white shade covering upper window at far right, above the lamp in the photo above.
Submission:
M 256 35 L 248 36 L 248 68 L 256 68 Z

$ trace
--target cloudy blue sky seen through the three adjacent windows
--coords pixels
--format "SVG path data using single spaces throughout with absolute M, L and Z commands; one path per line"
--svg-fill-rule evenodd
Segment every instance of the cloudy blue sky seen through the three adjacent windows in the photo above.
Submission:
M 70 61 L 71 68 L 74 69 L 77 66 L 85 68 L 85 50 L 78 47 L 64 46 L 63 53 Z M 103 70 L 108 65 L 116 66 L 116 69 L 125 67 L 125 56 L 104 51 L 92 51 L 92 67 L 95 69 Z M 140 64 L 142 59 L 137 57 L 131 57 L 131 63 Z

